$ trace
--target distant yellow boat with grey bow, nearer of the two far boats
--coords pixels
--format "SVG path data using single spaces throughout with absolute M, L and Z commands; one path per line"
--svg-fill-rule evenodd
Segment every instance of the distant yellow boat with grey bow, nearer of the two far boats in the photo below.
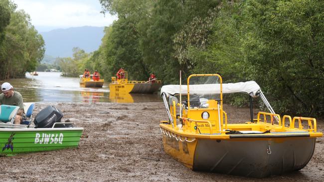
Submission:
M 111 78 L 109 84 L 110 93 L 154 93 L 161 87 L 161 80 L 155 80 L 154 83 L 149 81 L 129 81 L 127 72 L 124 72 L 124 79 L 116 80 L 116 77 Z

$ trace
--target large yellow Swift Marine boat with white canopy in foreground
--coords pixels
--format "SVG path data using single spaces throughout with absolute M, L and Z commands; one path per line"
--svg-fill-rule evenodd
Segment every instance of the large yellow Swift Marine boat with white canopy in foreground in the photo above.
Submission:
M 205 74 L 190 75 L 187 83 L 161 89 L 169 119 L 160 123 L 164 151 L 183 165 L 194 171 L 264 178 L 301 170 L 311 160 L 316 138 L 323 136 L 315 118 L 281 117 L 253 81 L 222 84 L 219 75 Z M 251 120 L 229 124 L 223 93 L 238 92 L 250 95 Z M 183 102 L 177 97 L 182 93 Z M 270 112 L 253 118 L 252 97 L 257 96 Z

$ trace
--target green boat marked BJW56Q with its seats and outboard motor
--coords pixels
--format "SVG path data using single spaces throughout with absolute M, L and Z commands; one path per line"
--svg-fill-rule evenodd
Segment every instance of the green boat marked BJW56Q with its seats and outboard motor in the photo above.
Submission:
M 18 109 L 0 105 L 0 156 L 78 147 L 83 128 L 74 127 L 72 122 L 60 122 L 63 115 L 55 107 L 40 111 L 35 117 L 36 125 L 31 122 L 33 103 L 25 109 L 30 120 L 13 124 Z

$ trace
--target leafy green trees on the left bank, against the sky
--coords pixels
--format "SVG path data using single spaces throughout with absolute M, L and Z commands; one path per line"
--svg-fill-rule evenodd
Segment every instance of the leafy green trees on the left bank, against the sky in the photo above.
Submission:
M 0 1 L 0 80 L 34 71 L 44 55 L 44 41 L 30 17 L 10 0 Z

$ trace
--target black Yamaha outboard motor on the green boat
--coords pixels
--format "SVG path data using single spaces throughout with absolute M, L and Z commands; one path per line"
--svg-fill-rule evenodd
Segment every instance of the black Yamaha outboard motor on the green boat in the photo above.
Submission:
M 39 111 L 34 119 L 35 128 L 51 128 L 54 123 L 61 122 L 63 113 L 54 106 L 47 106 Z M 56 125 L 55 125 L 56 126 Z M 65 127 L 60 125 L 60 127 Z

